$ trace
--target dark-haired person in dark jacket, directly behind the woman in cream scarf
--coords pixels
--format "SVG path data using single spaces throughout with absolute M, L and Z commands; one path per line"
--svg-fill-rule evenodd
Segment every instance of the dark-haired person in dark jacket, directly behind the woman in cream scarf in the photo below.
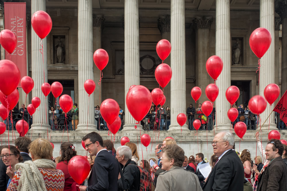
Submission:
M 27 160 L 32 160 L 29 156 L 28 146 L 31 143 L 31 139 L 29 137 L 18 137 L 15 140 L 15 147 L 20 151 L 20 155 L 23 158 L 23 162 Z

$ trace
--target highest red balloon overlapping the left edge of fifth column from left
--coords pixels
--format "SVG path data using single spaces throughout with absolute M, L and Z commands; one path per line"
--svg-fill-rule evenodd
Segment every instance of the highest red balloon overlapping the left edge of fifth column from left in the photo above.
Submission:
M 219 56 L 211 56 L 206 61 L 206 71 L 207 73 L 216 80 L 220 75 L 223 68 L 223 61 Z

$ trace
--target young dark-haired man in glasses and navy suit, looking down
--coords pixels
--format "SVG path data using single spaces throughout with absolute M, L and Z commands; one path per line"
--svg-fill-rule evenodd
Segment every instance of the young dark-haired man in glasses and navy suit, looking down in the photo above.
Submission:
M 82 139 L 86 151 L 96 155 L 94 166 L 88 179 L 88 187 L 80 186 L 80 191 L 118 190 L 119 162 L 103 147 L 102 137 L 91 132 Z

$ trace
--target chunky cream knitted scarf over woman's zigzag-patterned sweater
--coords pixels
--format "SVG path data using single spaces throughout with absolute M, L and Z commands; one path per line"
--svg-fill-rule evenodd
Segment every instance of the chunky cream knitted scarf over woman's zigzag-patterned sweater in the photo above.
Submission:
M 15 169 L 21 169 L 18 191 L 46 191 L 44 178 L 38 168 L 56 168 L 55 162 L 48 159 L 38 159 L 34 162 L 26 161 L 15 165 Z

